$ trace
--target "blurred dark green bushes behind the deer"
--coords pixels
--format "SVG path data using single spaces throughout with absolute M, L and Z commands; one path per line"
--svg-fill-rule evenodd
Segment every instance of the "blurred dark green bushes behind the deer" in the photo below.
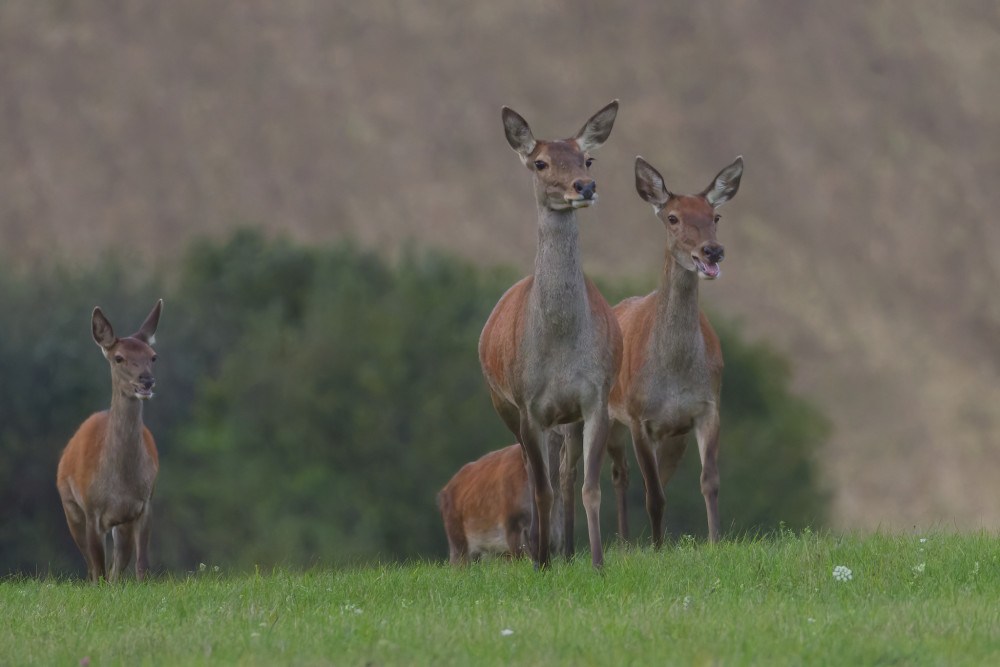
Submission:
M 249 230 L 153 269 L 124 254 L 0 268 L 0 573 L 83 572 L 55 469 L 76 427 L 109 402 L 90 312 L 139 322 L 160 297 L 156 398 L 144 413 L 161 460 L 154 572 L 446 558 L 435 494 L 511 442 L 476 347 L 517 277 L 432 250 L 388 260 L 350 241 L 305 246 Z M 601 287 L 611 303 L 638 293 Z M 782 357 L 710 317 L 726 359 L 724 532 L 822 526 L 827 421 L 790 393 Z M 689 452 L 667 486 L 668 534 L 705 534 L 698 471 Z M 608 541 L 609 484 L 604 495 Z M 632 533 L 648 541 L 638 474 L 629 499 Z

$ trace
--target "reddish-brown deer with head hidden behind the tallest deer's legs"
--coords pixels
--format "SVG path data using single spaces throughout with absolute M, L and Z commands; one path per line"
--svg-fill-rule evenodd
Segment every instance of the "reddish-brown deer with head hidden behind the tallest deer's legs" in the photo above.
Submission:
M 559 470 L 559 452 L 549 452 L 550 477 Z M 437 495 L 438 509 L 448 535 L 451 563 L 460 565 L 484 555 L 528 554 L 531 506 L 534 493 L 521 454 L 513 444 L 466 463 Z M 554 499 L 551 544 L 562 544 L 559 515 L 562 505 Z

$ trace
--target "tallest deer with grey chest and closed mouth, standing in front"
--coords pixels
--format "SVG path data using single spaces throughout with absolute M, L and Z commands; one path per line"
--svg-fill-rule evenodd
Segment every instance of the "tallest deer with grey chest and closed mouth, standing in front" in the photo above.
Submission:
M 539 568 L 549 565 L 554 494 L 545 452 L 555 447 L 549 432 L 581 421 L 583 428 L 570 434 L 580 439 L 572 446 L 584 457 L 591 563 L 604 565 L 599 476 L 622 337 L 611 306 L 584 276 L 576 211 L 597 201 L 590 154 L 607 141 L 617 113 L 614 100 L 572 138 L 538 140 L 520 114 L 509 107 L 501 111 L 507 142 L 531 173 L 538 243 L 534 272 L 510 287 L 490 313 L 479 360 L 493 407 L 521 444 L 534 492 L 529 547 Z M 571 544 L 572 535 L 565 537 Z

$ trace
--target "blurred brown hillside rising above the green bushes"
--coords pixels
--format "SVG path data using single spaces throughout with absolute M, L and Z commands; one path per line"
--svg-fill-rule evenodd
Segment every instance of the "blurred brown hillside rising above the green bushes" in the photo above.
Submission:
M 997 526 L 997 71 L 987 0 L 2 3 L 0 254 L 141 270 L 253 224 L 528 270 L 500 106 L 568 136 L 617 97 L 588 270 L 655 285 L 636 154 L 678 191 L 744 155 L 703 298 L 832 419 L 838 525 Z

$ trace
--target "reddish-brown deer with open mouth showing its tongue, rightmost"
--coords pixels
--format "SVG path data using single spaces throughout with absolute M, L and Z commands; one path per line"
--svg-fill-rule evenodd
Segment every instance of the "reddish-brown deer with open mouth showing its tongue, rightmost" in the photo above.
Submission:
M 720 275 L 723 247 L 716 241 L 718 208 L 740 187 L 743 158 L 723 169 L 700 194 L 675 195 L 641 157 L 635 161 L 639 196 L 653 205 L 667 231 L 660 289 L 625 299 L 615 316 L 625 339 L 621 371 L 611 392 L 611 416 L 628 426 L 646 485 L 646 510 L 653 542 L 663 543 L 663 485 L 670 481 L 694 431 L 701 455 L 701 492 L 708 536 L 719 540 L 719 393 L 722 349 L 698 307 L 700 279 Z M 610 446 L 614 467 L 628 481 L 620 441 Z M 619 480 L 616 480 L 618 490 Z M 619 494 L 619 519 L 624 497 Z

